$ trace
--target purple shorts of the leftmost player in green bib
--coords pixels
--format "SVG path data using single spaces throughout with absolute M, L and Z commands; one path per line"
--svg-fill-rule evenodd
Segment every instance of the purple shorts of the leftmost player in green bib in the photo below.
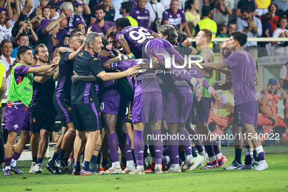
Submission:
M 5 107 L 5 129 L 13 132 L 30 131 L 30 109 L 22 111 L 14 107 Z

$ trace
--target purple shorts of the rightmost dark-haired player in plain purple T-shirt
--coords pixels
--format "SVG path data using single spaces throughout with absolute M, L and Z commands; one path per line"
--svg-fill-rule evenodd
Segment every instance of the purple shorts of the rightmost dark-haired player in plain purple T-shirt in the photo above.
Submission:
M 258 101 L 250 101 L 237 105 L 238 111 L 238 126 L 242 126 L 245 123 L 253 124 L 257 126 L 258 120 Z

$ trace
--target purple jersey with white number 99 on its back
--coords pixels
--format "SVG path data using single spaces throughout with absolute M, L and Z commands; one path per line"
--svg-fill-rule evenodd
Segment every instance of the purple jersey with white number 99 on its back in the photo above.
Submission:
M 120 35 L 123 35 L 134 56 L 136 58 L 142 58 L 142 48 L 145 47 L 145 44 L 149 40 L 154 38 L 151 35 L 152 32 L 153 31 L 146 29 L 144 27 L 128 26 L 122 29 L 119 33 L 117 33 L 116 39 L 118 41 L 118 37 Z

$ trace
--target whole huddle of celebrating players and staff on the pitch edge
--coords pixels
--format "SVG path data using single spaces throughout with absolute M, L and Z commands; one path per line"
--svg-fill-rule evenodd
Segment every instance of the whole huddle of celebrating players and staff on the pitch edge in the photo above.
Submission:
M 257 71 L 253 58 L 243 50 L 247 34 L 232 32 L 230 40 L 222 45 L 224 60 L 218 63 L 214 62 L 214 53 L 209 48 L 211 30 L 202 29 L 197 34 L 196 45 L 200 51 L 183 46 L 177 37 L 173 25 L 162 25 L 155 33 L 131 26 L 127 18 L 119 18 L 115 21 L 115 31 L 108 35 L 112 45 L 118 43 L 115 47 L 90 30 L 87 36 L 77 33 L 69 38 L 69 48 L 59 48 L 60 58 L 50 65 L 47 65 L 48 50 L 44 44 L 35 48 L 34 56 L 32 48 L 20 47 L 17 52 L 20 62 L 11 72 L 5 108 L 5 129 L 9 134 L 4 175 L 12 175 L 11 171 L 24 174 L 16 163 L 30 131 L 33 158 L 30 173 L 42 173 L 56 115 L 61 121 L 62 134 L 46 165 L 50 173 L 67 171 L 71 159 L 73 175 L 180 173 L 193 170 L 207 160 L 202 169 L 222 167 L 227 159 L 208 129 L 211 103 L 215 108 L 221 105 L 218 93 L 211 87 L 214 70 L 231 77 L 226 86 L 234 87 L 232 131 L 253 135 L 244 140 L 245 164 L 241 162 L 241 152 L 239 158 L 243 145 L 243 138 L 239 138 L 234 141 L 235 152 L 238 150 L 235 160 L 224 169 L 252 169 L 253 149 L 259 162 L 255 170 L 267 169 L 265 153 L 254 130 L 258 116 Z M 195 54 L 203 57 L 202 67 L 199 68 L 196 58 L 192 58 L 195 60 L 192 65 L 185 66 L 188 63 L 185 56 Z M 173 64 L 169 65 L 171 60 L 165 55 L 174 59 Z M 37 59 L 34 66 L 33 57 Z M 56 88 L 54 80 L 58 81 Z M 196 125 L 197 133 L 191 123 Z M 21 137 L 13 152 L 19 132 Z M 161 134 L 165 132 L 172 136 L 162 141 Z M 147 134 L 157 139 L 147 140 Z M 173 139 L 177 134 L 183 137 Z M 189 134 L 205 135 L 201 139 L 205 151 L 200 139 Z

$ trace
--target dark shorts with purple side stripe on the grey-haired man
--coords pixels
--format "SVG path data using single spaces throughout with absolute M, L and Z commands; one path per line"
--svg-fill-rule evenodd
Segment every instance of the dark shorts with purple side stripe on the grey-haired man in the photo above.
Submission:
M 95 131 L 102 129 L 98 102 L 72 105 L 73 124 L 77 131 Z

